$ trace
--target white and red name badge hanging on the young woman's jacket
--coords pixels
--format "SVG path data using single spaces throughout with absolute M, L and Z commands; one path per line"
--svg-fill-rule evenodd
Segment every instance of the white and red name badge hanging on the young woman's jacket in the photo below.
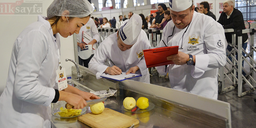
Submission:
M 62 68 L 61 70 L 58 68 L 56 70 L 57 82 L 58 82 L 58 90 L 63 90 L 68 87 L 68 81 L 66 79 L 66 70 Z

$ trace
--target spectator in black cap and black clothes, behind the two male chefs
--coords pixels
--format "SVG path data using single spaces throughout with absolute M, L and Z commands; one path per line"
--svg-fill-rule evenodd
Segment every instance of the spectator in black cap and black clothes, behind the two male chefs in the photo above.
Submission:
M 164 11 L 167 10 L 167 7 L 164 3 L 159 3 L 157 6 L 157 10 L 158 10 L 159 14 L 156 15 L 156 17 L 155 17 L 156 20 L 154 22 L 152 22 L 150 28 L 156 28 L 157 24 L 162 23 L 162 20 L 164 19 Z

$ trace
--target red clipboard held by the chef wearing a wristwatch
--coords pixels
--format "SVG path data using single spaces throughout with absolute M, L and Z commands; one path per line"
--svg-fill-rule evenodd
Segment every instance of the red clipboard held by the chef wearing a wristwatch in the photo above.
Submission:
M 147 68 L 173 64 L 166 57 L 178 54 L 179 46 L 159 47 L 155 49 L 143 50 Z

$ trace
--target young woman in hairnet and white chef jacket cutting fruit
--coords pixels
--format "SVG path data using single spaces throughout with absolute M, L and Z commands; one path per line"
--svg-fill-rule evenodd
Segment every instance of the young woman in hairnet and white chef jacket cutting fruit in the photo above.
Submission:
M 58 91 L 56 81 L 60 69 L 59 34 L 78 34 L 91 13 L 87 0 L 54 0 L 47 9 L 47 18 L 39 15 L 37 22 L 19 34 L 0 97 L 1 128 L 50 128 L 52 102 L 65 100 L 74 109 L 81 109 L 86 100 L 99 99 L 69 85 Z

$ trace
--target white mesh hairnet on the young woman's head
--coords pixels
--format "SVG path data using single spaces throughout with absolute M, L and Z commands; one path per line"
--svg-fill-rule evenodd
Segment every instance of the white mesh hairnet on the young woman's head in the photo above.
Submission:
M 63 12 L 67 10 L 69 14 Z M 47 17 L 68 16 L 83 18 L 93 11 L 92 5 L 87 0 L 54 0 L 47 8 Z

